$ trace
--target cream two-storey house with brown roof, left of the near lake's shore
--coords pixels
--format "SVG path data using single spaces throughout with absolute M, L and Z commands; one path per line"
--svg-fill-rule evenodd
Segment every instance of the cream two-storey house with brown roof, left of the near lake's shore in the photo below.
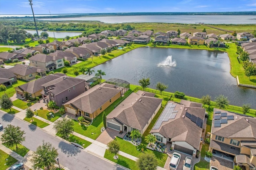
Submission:
M 58 56 L 51 56 L 46 54 L 36 54 L 29 58 L 30 65 L 33 67 L 40 67 L 46 71 L 52 71 L 64 67 L 64 60 Z

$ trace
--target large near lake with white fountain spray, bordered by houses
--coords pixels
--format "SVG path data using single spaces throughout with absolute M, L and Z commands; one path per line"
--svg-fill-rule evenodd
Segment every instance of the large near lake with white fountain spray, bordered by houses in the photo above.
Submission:
M 164 66 L 170 55 L 176 67 Z M 168 85 L 169 92 L 180 91 L 198 98 L 208 94 L 212 100 L 222 94 L 228 97 L 230 105 L 250 103 L 256 109 L 256 89 L 237 85 L 224 52 L 141 47 L 93 68 L 95 72 L 99 69 L 106 73 L 103 79 L 124 79 L 138 85 L 140 79 L 149 77 L 152 89 L 161 82 Z

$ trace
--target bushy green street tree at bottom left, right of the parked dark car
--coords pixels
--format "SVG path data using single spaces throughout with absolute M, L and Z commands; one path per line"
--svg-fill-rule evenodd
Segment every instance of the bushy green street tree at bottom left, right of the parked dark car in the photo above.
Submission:
M 57 149 L 51 143 L 43 140 L 43 144 L 38 146 L 32 155 L 33 168 L 41 169 L 44 167 L 44 169 L 50 170 L 54 166 L 57 156 Z

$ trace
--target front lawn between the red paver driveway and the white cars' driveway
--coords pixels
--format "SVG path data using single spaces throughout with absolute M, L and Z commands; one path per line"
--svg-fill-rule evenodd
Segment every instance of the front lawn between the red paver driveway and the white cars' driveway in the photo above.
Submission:
M 116 137 L 115 140 L 119 143 L 121 151 L 128 153 L 132 156 L 138 157 L 139 154 L 141 153 L 140 150 L 143 148 L 145 153 L 152 153 L 156 156 L 158 160 L 158 166 L 164 167 L 164 164 L 168 157 L 167 154 L 157 152 L 155 150 L 150 150 L 146 148 L 146 144 L 140 144 L 139 146 L 134 146 L 130 142 L 123 140 L 122 138 L 119 138 L 119 137 Z

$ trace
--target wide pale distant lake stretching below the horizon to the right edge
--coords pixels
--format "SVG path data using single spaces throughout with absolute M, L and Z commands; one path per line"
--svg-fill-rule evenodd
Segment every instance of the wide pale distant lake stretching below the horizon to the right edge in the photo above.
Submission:
M 127 22 L 163 22 L 195 24 L 255 24 L 256 16 L 246 15 L 173 15 L 173 16 L 99 16 L 99 17 L 72 17 L 72 18 L 44 18 L 41 21 L 100 21 L 104 23 L 127 23 Z

